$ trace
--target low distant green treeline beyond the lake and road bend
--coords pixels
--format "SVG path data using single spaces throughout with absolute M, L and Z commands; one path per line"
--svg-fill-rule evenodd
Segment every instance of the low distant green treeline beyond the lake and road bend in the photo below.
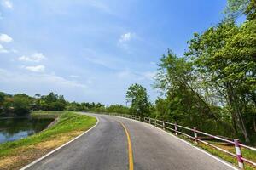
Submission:
M 105 106 L 94 102 L 69 102 L 63 95 L 49 93 L 48 95 L 35 94 L 6 94 L 0 92 L 0 115 L 27 116 L 31 111 L 97 111 L 129 113 L 124 105 Z

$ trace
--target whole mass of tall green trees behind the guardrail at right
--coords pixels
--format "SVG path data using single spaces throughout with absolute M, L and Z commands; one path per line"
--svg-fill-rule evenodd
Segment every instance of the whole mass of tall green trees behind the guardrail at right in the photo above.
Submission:
M 236 8 L 247 14 L 241 26 L 234 20 L 224 20 L 202 34 L 195 33 L 184 57 L 168 50 L 160 59 L 155 88 L 165 97 L 156 100 L 157 117 L 210 133 L 242 135 L 247 143 L 255 138 L 254 4 L 234 1 L 233 12 Z M 249 7 L 252 10 L 247 13 Z

